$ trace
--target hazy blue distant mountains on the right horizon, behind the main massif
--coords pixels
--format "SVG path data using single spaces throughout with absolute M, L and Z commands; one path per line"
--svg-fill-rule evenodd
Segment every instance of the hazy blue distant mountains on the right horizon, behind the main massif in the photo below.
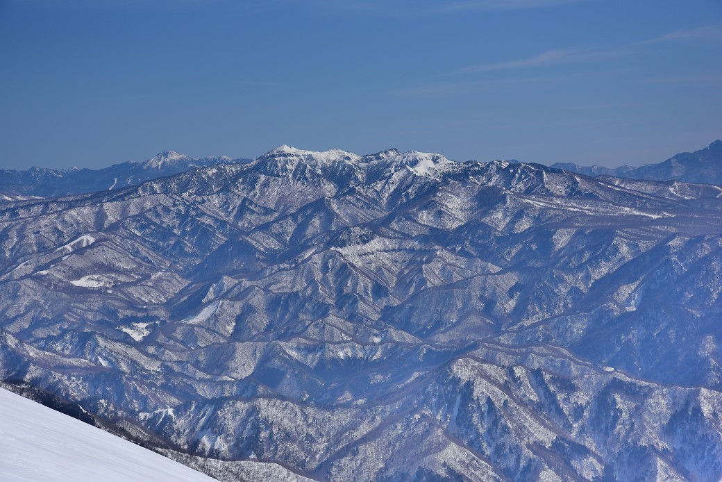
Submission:
M 555 163 L 552 164 L 552 168 L 586 174 L 586 176 L 722 184 L 722 141 L 716 140 L 704 149 L 682 152 L 664 162 L 645 164 L 638 168 L 630 165 L 622 165 L 618 168 L 604 168 L 600 165 L 586 167 L 574 163 Z

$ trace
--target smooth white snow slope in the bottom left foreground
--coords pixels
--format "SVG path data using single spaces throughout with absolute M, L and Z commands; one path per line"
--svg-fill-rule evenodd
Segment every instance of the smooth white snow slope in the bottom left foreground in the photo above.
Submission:
M 0 389 L 0 481 L 206 482 L 215 479 Z

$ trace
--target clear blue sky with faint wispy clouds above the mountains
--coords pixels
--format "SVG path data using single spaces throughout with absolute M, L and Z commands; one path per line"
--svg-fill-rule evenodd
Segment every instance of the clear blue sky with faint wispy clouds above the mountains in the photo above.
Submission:
M 0 168 L 277 145 L 640 165 L 722 137 L 719 0 L 0 0 Z

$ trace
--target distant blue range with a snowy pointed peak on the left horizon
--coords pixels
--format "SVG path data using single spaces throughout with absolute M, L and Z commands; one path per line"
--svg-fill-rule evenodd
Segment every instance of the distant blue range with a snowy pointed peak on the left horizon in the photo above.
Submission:
M 248 162 L 248 159 L 193 159 L 178 152 L 164 150 L 142 163 L 127 162 L 102 169 L 30 168 L 27 171 L 0 171 L 0 201 L 58 197 L 93 191 L 121 189 L 143 181 L 172 176 L 193 168 L 214 164 Z

